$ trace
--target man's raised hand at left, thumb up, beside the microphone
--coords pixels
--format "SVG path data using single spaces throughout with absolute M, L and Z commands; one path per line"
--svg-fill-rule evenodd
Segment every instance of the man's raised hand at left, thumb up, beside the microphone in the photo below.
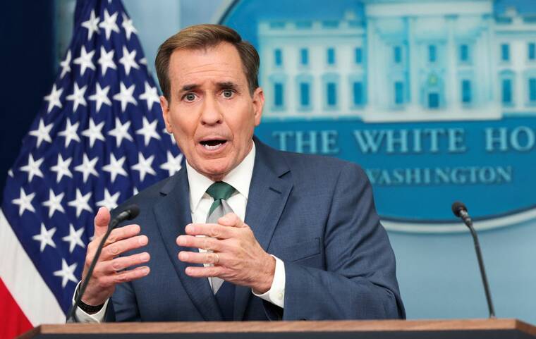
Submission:
M 95 216 L 95 235 L 92 242 L 87 245 L 85 254 L 84 271 L 82 279 L 87 276 L 91 261 L 95 257 L 99 246 L 110 222 L 110 212 L 106 207 L 101 207 Z M 147 245 L 147 236 L 138 235 L 140 226 L 128 225 L 116 228 L 111 231 L 109 238 L 104 243 L 104 247 L 99 256 L 95 270 L 90 282 L 82 297 L 82 301 L 89 305 L 104 304 L 114 293 L 117 283 L 133 281 L 149 274 L 148 266 L 137 267 L 133 270 L 121 271 L 130 266 L 146 263 L 150 259 L 147 252 L 129 255 L 128 257 L 118 257 L 119 254 Z

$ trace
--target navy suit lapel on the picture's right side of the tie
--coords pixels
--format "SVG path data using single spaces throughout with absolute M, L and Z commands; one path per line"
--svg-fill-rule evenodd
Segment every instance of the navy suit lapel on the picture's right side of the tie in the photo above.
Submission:
M 281 178 L 289 171 L 286 163 L 281 158 L 278 159 L 274 150 L 269 149 L 255 137 L 254 140 L 255 166 L 250 183 L 248 206 L 245 210 L 245 223 L 250 226 L 264 251 L 267 251 L 292 190 L 292 183 Z M 251 295 L 250 288 L 236 286 L 233 314 L 235 320 L 243 319 Z

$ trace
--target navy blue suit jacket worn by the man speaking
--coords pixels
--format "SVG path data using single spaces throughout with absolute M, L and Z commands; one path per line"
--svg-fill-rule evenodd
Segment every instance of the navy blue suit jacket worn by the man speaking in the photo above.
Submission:
M 234 320 L 397 319 L 405 312 L 395 258 L 374 209 L 367 176 L 339 159 L 280 152 L 255 138 L 245 223 L 285 263 L 284 309 L 237 286 Z M 191 223 L 188 176 L 135 195 L 147 235 L 151 273 L 116 286 L 108 321 L 221 321 L 207 278 L 191 278 L 178 260 L 178 235 Z

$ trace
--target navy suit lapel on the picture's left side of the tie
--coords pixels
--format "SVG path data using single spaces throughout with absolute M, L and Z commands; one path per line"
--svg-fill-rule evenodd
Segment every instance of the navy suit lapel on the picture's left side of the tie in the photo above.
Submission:
M 162 235 L 162 241 L 166 246 L 171 262 L 173 262 L 178 278 L 181 280 L 190 300 L 195 304 L 197 311 L 207 321 L 221 321 L 223 318 L 208 279 L 187 276 L 184 270 L 187 266 L 193 266 L 193 264 L 186 264 L 178 260 L 177 257 L 180 251 L 197 252 L 197 249 L 181 247 L 176 243 L 178 235 L 185 234 L 184 227 L 192 222 L 192 215 L 188 192 L 188 175 L 185 166 L 176 174 L 175 179 L 170 180 L 167 185 L 162 187 L 160 192 L 162 199 L 154 207 L 154 215 Z

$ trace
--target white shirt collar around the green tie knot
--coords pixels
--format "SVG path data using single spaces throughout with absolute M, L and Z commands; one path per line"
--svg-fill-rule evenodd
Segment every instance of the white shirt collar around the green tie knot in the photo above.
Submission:
M 235 189 L 248 199 L 250 192 L 251 177 L 253 175 L 253 166 L 255 165 L 255 142 L 247 156 L 238 166 L 233 168 L 222 181 L 235 187 Z M 207 189 L 214 181 L 207 178 L 205 175 L 195 171 L 186 160 L 186 173 L 188 174 L 188 185 L 190 186 L 190 209 L 195 211 L 197 205 L 201 201 Z

